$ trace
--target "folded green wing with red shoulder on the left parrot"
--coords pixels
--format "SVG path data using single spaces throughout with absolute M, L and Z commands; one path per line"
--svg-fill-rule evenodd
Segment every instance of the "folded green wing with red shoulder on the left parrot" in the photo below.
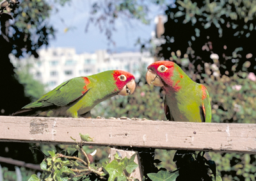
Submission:
M 41 98 L 36 100 L 36 102 L 22 107 L 22 109 L 66 106 L 90 90 L 90 88 L 88 88 L 88 84 L 90 84 L 90 81 L 87 77 L 76 77 L 74 79 L 70 79 L 54 88 L 54 90 L 49 91 L 49 93 L 43 95 Z

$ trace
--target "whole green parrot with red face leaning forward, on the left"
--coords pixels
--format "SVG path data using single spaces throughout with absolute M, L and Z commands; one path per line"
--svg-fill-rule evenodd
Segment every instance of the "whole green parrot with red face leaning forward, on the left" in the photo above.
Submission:
M 132 94 L 136 87 L 134 79 L 132 74 L 123 70 L 76 77 L 12 115 L 90 118 L 90 110 L 100 102 L 115 95 Z

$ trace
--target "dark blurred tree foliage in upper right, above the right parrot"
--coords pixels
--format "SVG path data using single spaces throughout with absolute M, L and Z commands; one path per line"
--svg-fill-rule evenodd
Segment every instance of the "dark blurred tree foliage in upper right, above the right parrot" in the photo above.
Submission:
M 194 65 L 186 68 L 198 73 L 196 81 L 205 73 L 204 63 L 213 63 L 213 53 L 220 57 L 216 66 L 221 75 L 239 72 L 246 61 L 251 63 L 248 70 L 255 71 L 255 6 L 250 0 L 176 1 L 166 10 L 159 58 L 173 60 L 173 52 L 180 51 Z

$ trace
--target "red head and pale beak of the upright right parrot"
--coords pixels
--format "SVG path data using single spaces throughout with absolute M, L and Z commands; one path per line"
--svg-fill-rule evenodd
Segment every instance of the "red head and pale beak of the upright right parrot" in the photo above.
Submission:
M 147 83 L 159 87 L 171 86 L 174 65 L 172 61 L 156 61 L 148 65 Z

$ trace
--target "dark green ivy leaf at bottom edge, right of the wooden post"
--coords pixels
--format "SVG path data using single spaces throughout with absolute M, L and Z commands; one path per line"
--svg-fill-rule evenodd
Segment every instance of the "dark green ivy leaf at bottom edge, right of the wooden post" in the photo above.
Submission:
M 148 173 L 147 175 L 152 181 L 175 181 L 179 176 L 179 172 L 175 171 L 170 173 L 168 171 L 160 170 L 158 173 Z

